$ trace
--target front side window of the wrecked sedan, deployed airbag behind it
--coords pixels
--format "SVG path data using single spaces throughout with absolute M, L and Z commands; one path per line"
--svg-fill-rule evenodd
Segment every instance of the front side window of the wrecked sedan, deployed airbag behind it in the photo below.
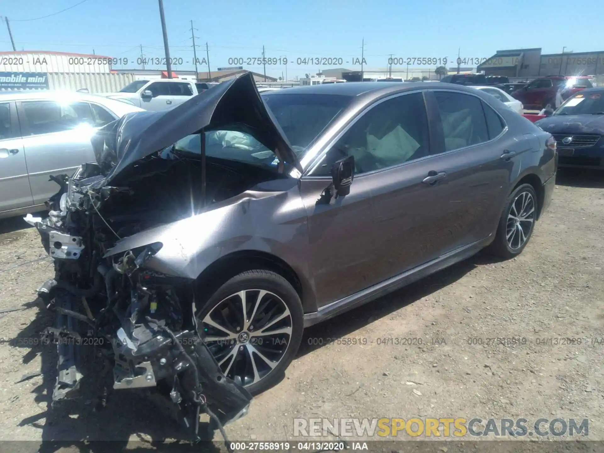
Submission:
M 333 162 L 355 157 L 355 174 L 373 172 L 429 154 L 426 108 L 421 93 L 374 106 L 342 135 L 312 176 L 329 176 Z

